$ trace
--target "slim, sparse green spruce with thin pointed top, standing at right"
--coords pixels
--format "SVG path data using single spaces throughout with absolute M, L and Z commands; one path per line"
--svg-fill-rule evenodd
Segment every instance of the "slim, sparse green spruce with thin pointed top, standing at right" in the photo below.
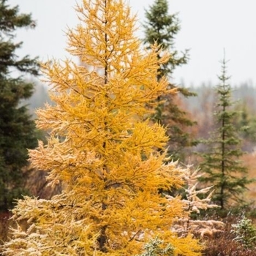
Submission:
M 228 83 L 225 59 L 222 61 L 222 73 L 218 78 L 219 85 L 215 88 L 217 94 L 215 128 L 210 138 L 201 141 L 206 148 L 200 154 L 203 157 L 200 168 L 205 173 L 200 181 L 214 185 L 212 199 L 223 210 L 231 204 L 241 206 L 244 203 L 243 192 L 252 180 L 247 177 L 246 167 L 239 159 L 243 151 L 241 151 L 238 130 L 233 124 L 238 112 L 233 110 L 232 89 Z

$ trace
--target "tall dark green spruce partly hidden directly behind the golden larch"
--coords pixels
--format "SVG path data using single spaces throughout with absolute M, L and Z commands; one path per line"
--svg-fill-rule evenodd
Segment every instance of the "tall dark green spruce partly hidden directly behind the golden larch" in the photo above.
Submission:
M 164 75 L 171 78 L 176 67 L 187 64 L 188 51 L 178 53 L 175 49 L 174 41 L 176 34 L 180 31 L 180 23 L 176 14 L 170 15 L 168 13 L 167 0 L 154 1 L 154 4 L 146 10 L 146 22 L 143 27 L 145 34 L 143 41 L 145 44 L 152 45 L 157 42 L 171 56 L 170 60 L 160 67 L 158 78 L 160 79 Z M 169 86 L 170 88 L 176 87 L 178 94 L 184 97 L 195 96 L 188 89 L 176 86 L 173 83 L 170 83 Z M 170 143 L 168 143 L 169 154 L 172 155 L 173 159 L 184 160 L 184 148 L 192 146 L 192 138 L 188 132 L 189 127 L 192 127 L 195 122 L 189 118 L 185 110 L 178 106 L 177 95 L 167 95 L 159 97 L 157 100 L 159 105 L 153 119 L 167 127 L 167 135 L 170 137 Z

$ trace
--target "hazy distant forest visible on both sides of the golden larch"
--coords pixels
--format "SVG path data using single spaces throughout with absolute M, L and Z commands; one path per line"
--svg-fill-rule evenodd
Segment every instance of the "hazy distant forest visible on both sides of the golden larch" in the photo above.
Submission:
M 33 96 L 23 102 L 29 105 L 29 110 L 34 118 L 37 118 L 35 110 L 43 108 L 45 102 L 51 102 L 48 87 L 38 80 L 36 83 Z M 181 109 L 189 113 L 189 117 L 196 121 L 194 127 L 191 128 L 191 133 L 194 138 L 207 138 L 208 133 L 214 129 L 213 113 L 216 102 L 214 85 L 211 83 L 203 83 L 200 86 L 192 86 L 189 91 L 195 92 L 195 97 L 183 97 L 178 95 L 177 101 Z M 239 86 L 233 87 L 234 108 L 238 111 L 238 117 L 235 124 L 238 129 L 241 129 L 241 139 L 243 140 L 243 149 L 247 152 L 255 151 L 256 147 L 256 86 L 252 83 L 242 83 Z M 244 131 L 242 127 L 246 126 Z

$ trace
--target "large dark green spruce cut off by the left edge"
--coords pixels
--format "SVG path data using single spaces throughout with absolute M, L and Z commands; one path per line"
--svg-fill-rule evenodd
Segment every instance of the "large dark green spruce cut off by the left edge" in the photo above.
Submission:
M 18 7 L 0 0 L 0 211 L 7 211 L 24 193 L 27 148 L 37 146 L 34 121 L 21 105 L 33 92 L 33 84 L 26 83 L 23 75 L 38 75 L 37 59 L 18 57 L 22 42 L 15 42 L 15 31 L 31 26 L 31 15 L 20 14 Z

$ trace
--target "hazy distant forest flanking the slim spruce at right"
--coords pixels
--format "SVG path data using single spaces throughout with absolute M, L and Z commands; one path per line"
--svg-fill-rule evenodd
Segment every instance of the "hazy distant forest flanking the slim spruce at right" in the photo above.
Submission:
M 183 108 L 190 113 L 195 125 L 195 138 L 208 138 L 209 132 L 214 129 L 214 112 L 216 97 L 214 85 L 202 84 L 190 87 L 189 90 L 197 94 L 195 97 L 182 98 Z M 256 148 L 256 86 L 252 83 L 241 83 L 233 87 L 232 99 L 234 110 L 238 115 L 234 125 L 240 132 L 243 150 L 249 153 Z

